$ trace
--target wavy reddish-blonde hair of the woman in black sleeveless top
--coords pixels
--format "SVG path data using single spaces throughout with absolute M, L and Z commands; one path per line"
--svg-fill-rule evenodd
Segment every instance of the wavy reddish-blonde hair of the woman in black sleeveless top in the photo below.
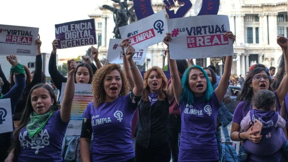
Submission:
M 146 71 L 146 73 L 144 74 L 144 91 L 143 91 L 143 95 L 142 95 L 142 100 L 143 101 L 148 101 L 148 95 L 150 92 L 150 87 L 148 85 L 148 78 L 149 75 L 152 71 L 156 71 L 157 74 L 161 77 L 162 79 L 162 85 L 158 90 L 158 95 L 157 98 L 159 101 L 163 101 L 165 99 L 165 91 L 167 89 L 167 78 L 163 72 L 163 70 L 158 67 L 158 66 L 153 66 L 151 67 L 149 70 Z

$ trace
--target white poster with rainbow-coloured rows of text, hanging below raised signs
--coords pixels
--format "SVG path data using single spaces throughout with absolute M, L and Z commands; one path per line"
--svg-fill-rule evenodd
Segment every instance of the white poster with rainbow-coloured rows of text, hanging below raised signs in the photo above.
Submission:
M 66 83 L 62 83 L 65 87 Z M 62 104 L 65 88 L 61 89 L 60 104 Z M 72 101 L 71 119 L 69 121 L 66 134 L 80 135 L 83 121 L 83 113 L 89 102 L 93 100 L 91 84 L 75 83 L 75 94 Z

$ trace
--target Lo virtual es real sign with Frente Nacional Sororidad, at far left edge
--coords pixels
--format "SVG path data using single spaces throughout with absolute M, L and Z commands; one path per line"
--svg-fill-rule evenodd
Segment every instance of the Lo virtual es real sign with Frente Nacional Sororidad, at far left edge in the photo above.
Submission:
M 0 54 L 36 56 L 39 28 L 0 25 Z

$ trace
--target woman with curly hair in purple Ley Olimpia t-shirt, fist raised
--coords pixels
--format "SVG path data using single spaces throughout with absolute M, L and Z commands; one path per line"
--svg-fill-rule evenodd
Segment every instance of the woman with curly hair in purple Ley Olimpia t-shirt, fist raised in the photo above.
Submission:
M 143 79 L 132 57 L 135 49 L 126 45 L 126 57 L 134 88 L 129 93 L 126 76 L 117 64 L 107 64 L 95 73 L 91 86 L 93 101 L 84 113 L 80 154 L 86 161 L 135 161 L 131 122 L 143 93 Z M 90 153 L 90 139 L 93 144 Z

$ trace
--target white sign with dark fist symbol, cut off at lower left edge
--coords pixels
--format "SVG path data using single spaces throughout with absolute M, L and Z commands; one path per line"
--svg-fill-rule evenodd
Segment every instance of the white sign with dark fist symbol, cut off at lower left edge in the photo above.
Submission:
M 13 121 L 10 98 L 0 99 L 0 133 L 12 131 Z

